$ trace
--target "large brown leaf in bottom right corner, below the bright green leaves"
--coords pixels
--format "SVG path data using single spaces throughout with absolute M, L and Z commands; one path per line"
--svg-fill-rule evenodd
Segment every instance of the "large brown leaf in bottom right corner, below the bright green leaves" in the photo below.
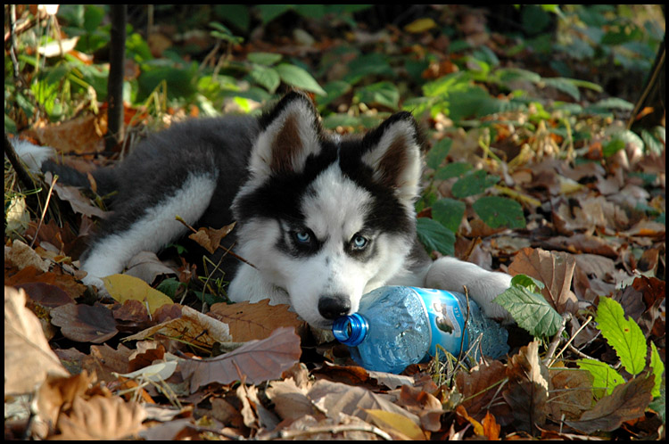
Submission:
M 624 421 L 631 421 L 644 415 L 646 407 L 653 399 L 655 380 L 652 377 L 640 376 L 632 381 L 617 385 L 614 391 L 597 401 L 595 407 L 583 413 L 578 421 L 565 423 L 585 433 L 598 430 L 612 432 Z

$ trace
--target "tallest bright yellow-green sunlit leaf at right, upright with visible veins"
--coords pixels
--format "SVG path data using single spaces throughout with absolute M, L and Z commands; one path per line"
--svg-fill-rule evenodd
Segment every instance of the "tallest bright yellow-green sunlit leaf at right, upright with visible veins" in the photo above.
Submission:
M 640 374 L 646 366 L 646 338 L 632 318 L 624 317 L 624 309 L 611 298 L 599 298 L 597 328 L 615 349 L 629 374 Z

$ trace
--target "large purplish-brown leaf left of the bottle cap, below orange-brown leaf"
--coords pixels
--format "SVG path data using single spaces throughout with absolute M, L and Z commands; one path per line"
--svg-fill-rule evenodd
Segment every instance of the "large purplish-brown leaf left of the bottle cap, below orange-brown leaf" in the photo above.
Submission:
M 290 327 L 277 328 L 267 339 L 249 341 L 239 349 L 211 359 L 180 362 L 184 379 L 191 378 L 191 393 L 211 382 L 228 384 L 241 379 L 252 384 L 281 377 L 301 355 L 300 337 Z

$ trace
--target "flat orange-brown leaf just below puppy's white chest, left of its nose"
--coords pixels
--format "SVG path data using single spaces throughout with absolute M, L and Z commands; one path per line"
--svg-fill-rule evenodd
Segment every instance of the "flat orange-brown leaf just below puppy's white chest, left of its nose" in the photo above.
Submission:
M 279 327 L 300 327 L 304 324 L 288 305 L 269 305 L 269 300 L 256 303 L 219 302 L 211 306 L 209 316 L 226 323 L 235 342 L 265 339 Z

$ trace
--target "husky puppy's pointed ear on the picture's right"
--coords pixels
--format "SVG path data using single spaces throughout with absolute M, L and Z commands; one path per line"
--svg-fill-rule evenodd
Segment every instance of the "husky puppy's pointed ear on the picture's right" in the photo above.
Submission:
M 362 161 L 374 171 L 374 180 L 395 190 L 404 201 L 416 199 L 421 175 L 423 144 L 410 112 L 393 114 L 363 138 Z

